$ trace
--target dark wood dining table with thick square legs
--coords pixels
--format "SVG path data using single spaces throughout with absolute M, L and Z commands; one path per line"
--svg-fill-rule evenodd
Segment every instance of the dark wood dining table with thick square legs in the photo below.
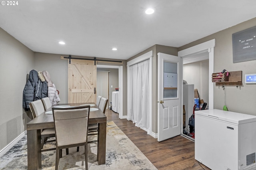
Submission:
M 94 103 L 65 103 L 57 105 L 79 106 Z M 98 108 L 96 105 L 91 108 Z M 50 111 L 50 109 L 46 111 Z M 90 111 L 89 124 L 98 123 L 98 148 L 97 160 L 98 164 L 106 162 L 106 115 L 99 110 Z M 52 114 L 42 113 L 29 123 L 27 123 L 27 145 L 28 145 L 28 170 L 42 169 L 41 158 L 41 129 L 54 128 Z

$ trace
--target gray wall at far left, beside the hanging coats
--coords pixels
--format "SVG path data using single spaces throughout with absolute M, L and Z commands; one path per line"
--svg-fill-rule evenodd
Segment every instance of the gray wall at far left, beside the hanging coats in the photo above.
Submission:
M 34 52 L 0 28 L 0 150 L 31 120 L 22 109 L 22 92 L 33 63 Z

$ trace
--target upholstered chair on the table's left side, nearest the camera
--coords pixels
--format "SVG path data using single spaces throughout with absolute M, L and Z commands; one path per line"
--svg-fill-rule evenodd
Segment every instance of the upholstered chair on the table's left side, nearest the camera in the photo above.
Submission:
M 38 115 L 44 113 L 44 105 L 41 100 L 32 101 L 29 103 L 30 110 L 33 115 L 33 119 L 35 119 Z M 55 137 L 55 129 L 54 128 L 46 128 L 41 130 L 41 149 L 44 147 L 44 143 L 48 137 Z M 50 148 L 47 150 L 55 150 L 55 148 Z M 46 151 L 46 150 L 42 150 Z

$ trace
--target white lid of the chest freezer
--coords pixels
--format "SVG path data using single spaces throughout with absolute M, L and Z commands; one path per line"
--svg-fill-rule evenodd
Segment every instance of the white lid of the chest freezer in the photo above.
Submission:
M 250 123 L 250 122 L 256 121 L 256 116 L 254 115 L 223 111 L 219 109 L 195 111 L 195 115 L 201 115 L 204 117 L 218 119 L 218 120 L 235 123 L 235 124 L 244 124 L 244 123 Z

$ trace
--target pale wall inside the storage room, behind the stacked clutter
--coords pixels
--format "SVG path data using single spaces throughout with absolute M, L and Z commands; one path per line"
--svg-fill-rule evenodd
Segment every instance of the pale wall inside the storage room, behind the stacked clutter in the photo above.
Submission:
M 183 80 L 194 84 L 200 99 L 209 104 L 209 60 L 197 61 L 183 65 Z

